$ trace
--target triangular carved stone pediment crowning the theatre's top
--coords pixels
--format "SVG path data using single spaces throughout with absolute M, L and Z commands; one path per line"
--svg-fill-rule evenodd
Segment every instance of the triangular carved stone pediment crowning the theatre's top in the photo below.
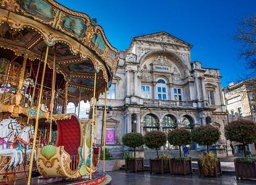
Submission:
M 154 43 L 160 43 L 160 44 L 175 44 L 175 45 L 179 45 L 179 46 L 189 47 L 190 49 L 192 48 L 191 44 L 186 43 L 185 41 L 182 41 L 181 39 L 178 39 L 175 36 L 172 36 L 166 32 L 138 36 L 134 39 L 140 40 L 140 41 L 149 41 L 149 42 L 154 42 Z

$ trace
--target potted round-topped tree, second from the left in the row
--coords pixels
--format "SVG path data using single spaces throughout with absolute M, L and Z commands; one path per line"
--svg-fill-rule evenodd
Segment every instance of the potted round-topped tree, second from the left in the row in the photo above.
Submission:
M 170 171 L 170 159 L 163 155 L 163 157 L 159 158 L 158 149 L 165 145 L 167 142 L 167 136 L 162 131 L 151 131 L 145 134 L 144 142 L 147 147 L 150 149 L 157 150 L 157 158 L 149 159 L 150 165 L 150 173 L 152 172 L 161 172 L 164 173 L 166 171 Z

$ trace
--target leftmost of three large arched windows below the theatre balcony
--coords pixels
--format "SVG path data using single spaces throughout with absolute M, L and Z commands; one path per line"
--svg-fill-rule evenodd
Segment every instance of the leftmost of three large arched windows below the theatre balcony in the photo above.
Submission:
M 159 119 L 154 114 L 148 114 L 144 117 L 143 133 L 146 134 L 149 131 L 159 130 Z

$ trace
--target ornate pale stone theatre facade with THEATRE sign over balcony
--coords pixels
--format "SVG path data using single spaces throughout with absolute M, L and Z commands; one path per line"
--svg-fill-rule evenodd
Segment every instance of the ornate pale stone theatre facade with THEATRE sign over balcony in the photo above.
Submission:
M 228 120 L 220 70 L 191 62 L 191 48 L 161 32 L 133 38 L 129 49 L 120 51 L 117 73 L 107 93 L 107 105 L 112 108 L 107 113 L 107 133 L 114 133 L 115 137 L 112 141 L 107 139 L 109 147 L 122 148 L 123 134 L 131 131 L 167 133 L 173 128 L 211 124 L 221 131 L 215 149 L 226 151 L 223 129 Z M 97 105 L 104 107 L 104 96 Z M 102 112 L 97 113 L 98 128 L 102 125 Z M 202 149 L 197 144 L 191 148 Z

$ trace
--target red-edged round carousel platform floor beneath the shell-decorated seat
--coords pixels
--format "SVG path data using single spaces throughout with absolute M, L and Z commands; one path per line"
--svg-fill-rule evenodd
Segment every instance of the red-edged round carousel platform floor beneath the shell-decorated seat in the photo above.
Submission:
M 85 176 L 84 178 L 44 178 L 42 176 L 38 176 L 35 178 L 31 178 L 30 184 L 58 184 L 58 185 L 64 185 L 64 184 L 73 184 L 73 185 L 79 185 L 79 184 L 90 184 L 90 185 L 96 185 L 96 184 L 109 184 L 111 181 L 111 176 L 105 174 L 105 173 L 93 173 L 92 179 L 89 180 L 88 176 Z M 1 183 L 0 183 L 1 184 Z M 27 179 L 19 179 L 16 181 L 16 184 L 27 184 Z

